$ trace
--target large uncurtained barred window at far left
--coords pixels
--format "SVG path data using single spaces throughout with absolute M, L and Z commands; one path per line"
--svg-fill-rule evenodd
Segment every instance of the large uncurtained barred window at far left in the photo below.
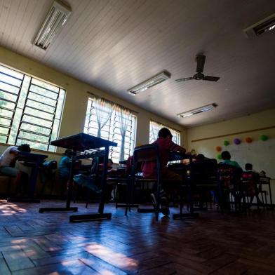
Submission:
M 0 65 L 0 142 L 55 151 L 65 90 Z

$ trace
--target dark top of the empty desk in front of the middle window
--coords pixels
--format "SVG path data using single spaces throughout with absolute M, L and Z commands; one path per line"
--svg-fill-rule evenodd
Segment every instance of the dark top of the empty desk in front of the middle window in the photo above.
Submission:
M 54 140 L 51 142 L 51 145 L 75 151 L 84 151 L 87 149 L 97 149 L 107 146 L 116 147 L 117 143 L 103 140 L 102 138 L 94 137 L 93 135 L 79 133 L 76 135 L 69 135 L 69 137 L 60 138 L 59 140 Z

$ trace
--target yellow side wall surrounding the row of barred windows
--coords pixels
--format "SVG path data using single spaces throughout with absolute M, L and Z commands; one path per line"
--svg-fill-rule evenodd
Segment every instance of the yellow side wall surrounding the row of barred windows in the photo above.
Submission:
M 86 92 L 89 91 L 90 93 L 107 98 L 112 102 L 116 102 L 137 112 L 136 145 L 149 143 L 150 119 L 159 121 L 164 125 L 179 130 L 182 136 L 182 145 L 187 144 L 187 131 L 185 128 L 182 128 L 182 126 L 147 112 L 145 109 L 141 109 L 140 107 L 116 98 L 113 95 L 109 95 L 108 93 L 90 86 L 87 83 L 83 83 L 82 81 L 76 80 L 71 76 L 62 74 L 55 69 L 41 65 L 39 62 L 25 58 L 24 56 L 18 55 L 17 53 L 9 51 L 3 47 L 0 47 L 0 62 L 3 63 L 3 65 L 8 65 L 25 72 L 26 74 L 36 76 L 40 79 L 65 88 L 67 93 L 59 137 L 65 137 L 67 135 L 83 132 L 88 101 L 88 93 Z M 3 147 L 0 147 L 0 150 L 3 151 Z M 58 152 L 60 152 L 60 149 L 58 149 Z

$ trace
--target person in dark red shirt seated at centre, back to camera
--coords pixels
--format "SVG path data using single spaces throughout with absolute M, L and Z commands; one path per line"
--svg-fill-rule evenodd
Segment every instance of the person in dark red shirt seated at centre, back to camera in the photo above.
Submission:
M 186 150 L 180 145 L 176 145 L 172 141 L 173 135 L 168 128 L 161 128 L 159 130 L 158 139 L 154 144 L 158 145 L 161 161 L 161 177 L 163 180 L 182 180 L 179 174 L 175 173 L 173 170 L 167 168 L 167 163 L 169 159 L 170 152 L 182 152 L 185 154 Z M 147 161 L 142 163 L 142 175 L 146 178 L 156 177 L 156 161 Z M 165 187 L 164 187 L 165 188 Z M 151 194 L 153 203 L 156 203 L 156 198 L 154 194 Z M 165 192 L 161 190 L 161 212 L 163 215 L 169 215 L 170 211 L 168 208 L 168 199 L 166 198 Z

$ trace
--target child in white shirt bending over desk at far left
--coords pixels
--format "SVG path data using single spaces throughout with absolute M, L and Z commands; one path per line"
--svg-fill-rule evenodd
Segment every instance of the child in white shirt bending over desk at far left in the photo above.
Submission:
M 9 177 L 15 177 L 15 183 L 17 191 L 21 193 L 21 187 L 23 193 L 27 192 L 28 175 L 17 168 L 14 168 L 15 161 L 20 156 L 20 152 L 31 152 L 29 145 L 24 144 L 20 146 L 10 146 L 0 156 L 0 173 Z

